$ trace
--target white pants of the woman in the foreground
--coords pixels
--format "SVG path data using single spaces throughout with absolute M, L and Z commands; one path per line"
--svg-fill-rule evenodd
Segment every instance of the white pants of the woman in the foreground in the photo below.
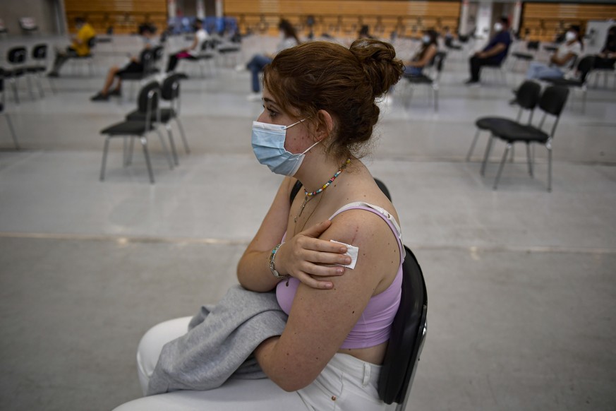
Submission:
M 152 327 L 143 335 L 137 352 L 143 393 L 156 367 L 163 345 L 186 333 L 191 317 L 176 318 Z M 332 410 L 382 411 L 378 398 L 381 367 L 351 355 L 336 354 L 306 388 L 287 393 L 270 379 L 230 379 L 210 391 L 174 391 L 131 401 L 116 411 L 136 410 Z

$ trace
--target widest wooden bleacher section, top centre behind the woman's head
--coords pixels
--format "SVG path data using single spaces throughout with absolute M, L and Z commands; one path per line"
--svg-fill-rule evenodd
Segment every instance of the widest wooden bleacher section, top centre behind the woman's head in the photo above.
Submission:
M 370 26 L 370 34 L 389 37 L 419 37 L 421 30 L 441 30 L 449 26 L 457 32 L 460 1 L 391 0 L 224 0 L 224 16 L 235 17 L 242 34 L 255 32 L 277 35 L 280 18 L 286 18 L 301 36 L 313 33 L 334 37 L 354 37 L 361 25 Z

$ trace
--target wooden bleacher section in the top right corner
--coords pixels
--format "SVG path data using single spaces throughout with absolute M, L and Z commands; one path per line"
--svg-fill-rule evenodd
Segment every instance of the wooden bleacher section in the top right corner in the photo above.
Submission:
M 588 20 L 616 20 L 616 5 L 525 3 L 520 33 L 528 30 L 528 40 L 552 42 L 569 25 L 580 25 L 586 32 Z

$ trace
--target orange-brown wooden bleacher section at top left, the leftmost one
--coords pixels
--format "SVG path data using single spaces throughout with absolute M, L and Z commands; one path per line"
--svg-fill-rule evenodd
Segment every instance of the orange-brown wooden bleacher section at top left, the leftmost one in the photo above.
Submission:
M 85 17 L 97 34 L 113 27 L 114 34 L 131 34 L 143 23 L 167 28 L 167 0 L 64 0 L 68 31 L 75 32 L 75 18 Z

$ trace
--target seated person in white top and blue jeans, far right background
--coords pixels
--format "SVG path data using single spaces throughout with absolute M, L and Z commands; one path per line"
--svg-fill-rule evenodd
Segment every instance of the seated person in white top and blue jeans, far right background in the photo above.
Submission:
M 550 56 L 550 64 L 531 61 L 526 71 L 526 79 L 533 78 L 562 78 L 569 68 L 572 68 L 577 56 L 582 52 L 579 27 L 572 26 L 564 35 L 564 42 Z

